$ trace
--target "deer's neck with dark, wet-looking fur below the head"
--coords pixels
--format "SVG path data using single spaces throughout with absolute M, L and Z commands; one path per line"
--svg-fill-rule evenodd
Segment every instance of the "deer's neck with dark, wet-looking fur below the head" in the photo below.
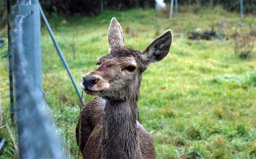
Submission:
M 102 158 L 139 158 L 137 101 L 108 100 L 104 111 Z

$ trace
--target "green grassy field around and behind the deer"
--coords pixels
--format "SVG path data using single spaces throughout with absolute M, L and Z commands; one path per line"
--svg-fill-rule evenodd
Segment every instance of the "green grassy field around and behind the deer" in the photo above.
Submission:
M 96 59 L 108 53 L 109 22 L 116 17 L 124 31 L 125 45 L 143 50 L 167 29 L 173 31 L 169 55 L 143 74 L 139 96 L 141 123 L 151 134 L 157 158 L 256 158 L 256 58 L 234 54 L 233 41 L 188 40 L 196 28 L 210 30 L 224 19 L 230 25 L 248 27 L 255 17 L 228 13 L 216 7 L 197 14 L 181 8 L 172 20 L 154 10 L 104 11 L 97 17 L 77 15 L 49 19 L 56 39 L 79 84 L 81 76 L 96 68 Z M 66 20 L 63 25 L 62 21 Z M 4 31 L 2 31 L 3 33 Z M 0 49 L 6 54 L 7 46 Z M 78 147 L 75 126 L 79 99 L 62 67 L 45 26 L 42 28 L 43 91 L 70 158 Z M 4 128 L 8 139 L 1 158 L 15 158 L 10 134 L 8 59 L 0 59 Z M 86 101 L 94 96 L 84 96 Z M 10 128 L 9 128 L 10 127 Z M 9 128 L 9 130 L 8 130 Z

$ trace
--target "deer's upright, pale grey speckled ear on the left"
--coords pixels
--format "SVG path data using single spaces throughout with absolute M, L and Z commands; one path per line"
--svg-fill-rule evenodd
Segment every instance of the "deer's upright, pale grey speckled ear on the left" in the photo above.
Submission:
M 122 28 L 116 18 L 112 18 L 109 26 L 109 50 L 124 46 Z

